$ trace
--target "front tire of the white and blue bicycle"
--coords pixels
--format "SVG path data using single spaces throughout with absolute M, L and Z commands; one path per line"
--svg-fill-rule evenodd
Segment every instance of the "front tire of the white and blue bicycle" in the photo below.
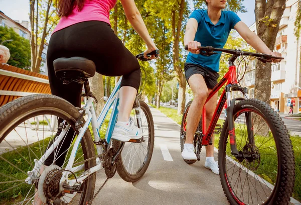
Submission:
M 148 107 L 148 105 L 139 100 L 140 102 L 140 108 L 141 111 L 144 113 L 144 115 L 146 116 L 146 120 L 147 120 L 147 125 L 148 125 L 148 138 L 150 139 L 150 141 L 148 141 L 148 146 L 147 146 L 147 156 L 146 156 L 146 161 L 144 163 L 144 165 L 142 167 L 140 167 L 140 169 L 138 170 L 137 173 L 135 174 L 131 174 L 129 173 L 122 161 L 122 155 L 120 154 L 119 159 L 117 161 L 117 172 L 119 174 L 119 176 L 127 182 L 135 182 L 137 180 L 139 180 L 143 174 L 146 172 L 148 165 L 150 163 L 150 160 L 152 159 L 152 155 L 153 155 L 153 150 L 154 150 L 154 142 L 155 142 L 155 129 L 154 129 L 154 120 L 153 120 L 153 115 L 150 112 L 150 109 Z M 119 141 L 113 141 L 113 147 L 114 149 L 118 149 L 120 142 Z

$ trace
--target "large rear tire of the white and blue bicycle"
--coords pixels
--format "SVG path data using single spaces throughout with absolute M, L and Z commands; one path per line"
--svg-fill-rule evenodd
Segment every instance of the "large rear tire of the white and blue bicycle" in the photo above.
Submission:
M 0 143 L 14 129 L 14 125 L 30 118 L 30 116 L 39 115 L 41 113 L 52 113 L 66 121 L 74 128 L 76 120 L 80 117 L 78 110 L 70 104 L 70 102 L 58 96 L 50 94 L 33 94 L 18 98 L 0 109 Z M 83 120 L 83 119 L 82 119 Z M 84 121 L 84 120 L 83 120 Z M 84 158 L 88 159 L 95 156 L 95 149 L 89 129 L 85 132 L 81 146 Z M 85 170 L 96 165 L 95 160 L 85 162 Z M 28 170 L 26 170 L 28 171 Z M 83 192 L 79 199 L 80 204 L 86 204 L 93 196 L 96 173 L 92 174 L 85 180 Z

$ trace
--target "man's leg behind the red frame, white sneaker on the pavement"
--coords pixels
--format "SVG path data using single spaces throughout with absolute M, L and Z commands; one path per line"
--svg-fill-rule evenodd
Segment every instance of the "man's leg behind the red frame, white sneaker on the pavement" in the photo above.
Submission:
M 211 92 L 212 89 L 208 89 Z M 216 109 L 217 103 L 217 93 L 213 95 L 209 101 L 206 103 L 206 132 L 208 131 L 210 122 L 214 115 L 214 111 Z M 219 174 L 219 169 L 216 161 L 214 161 L 214 134 L 211 135 L 212 145 L 206 146 L 206 162 L 205 167 L 211 169 L 211 171 L 215 174 Z

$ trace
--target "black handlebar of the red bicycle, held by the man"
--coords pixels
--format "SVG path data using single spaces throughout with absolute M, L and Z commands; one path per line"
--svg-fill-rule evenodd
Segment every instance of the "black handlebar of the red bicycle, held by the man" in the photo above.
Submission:
M 225 49 L 225 48 L 213 48 L 212 46 L 198 46 L 198 49 L 200 51 L 205 51 L 205 55 L 213 55 L 213 54 L 218 54 L 214 53 L 214 51 L 220 51 L 224 53 L 229 53 L 233 55 L 239 55 L 239 56 L 254 56 L 254 57 L 259 57 L 259 60 L 266 63 L 270 62 L 272 58 L 275 59 L 284 59 L 282 57 L 277 57 L 277 56 L 271 56 L 263 53 L 252 53 L 252 52 L 247 52 L 247 51 L 242 51 L 242 50 L 233 50 L 233 49 Z M 188 50 L 188 45 L 185 45 L 185 50 Z M 203 54 L 204 55 L 204 54 Z

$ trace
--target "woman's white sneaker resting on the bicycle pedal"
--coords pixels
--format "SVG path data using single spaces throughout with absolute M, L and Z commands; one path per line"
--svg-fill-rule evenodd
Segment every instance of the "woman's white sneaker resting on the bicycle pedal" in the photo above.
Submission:
M 142 137 L 142 130 L 134 126 L 132 118 L 129 122 L 117 122 L 112 134 L 113 140 L 128 142 L 131 139 L 140 139 Z

